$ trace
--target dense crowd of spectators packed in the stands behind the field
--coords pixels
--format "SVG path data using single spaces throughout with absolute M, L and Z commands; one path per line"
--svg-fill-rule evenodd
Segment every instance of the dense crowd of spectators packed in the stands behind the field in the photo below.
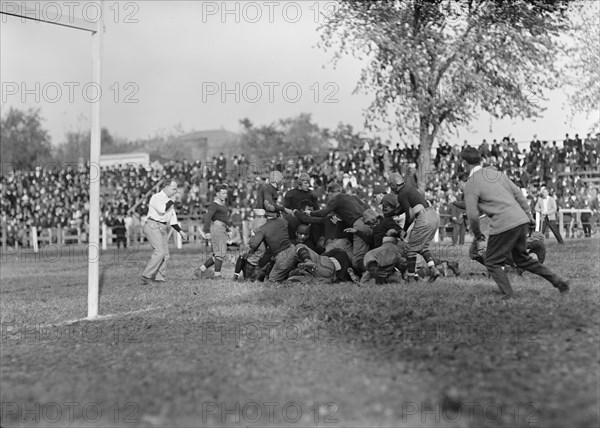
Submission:
M 272 170 L 283 172 L 286 178 L 281 195 L 295 186 L 295 177 L 308 173 L 320 202 L 324 202 L 326 186 L 332 181 L 340 183 L 344 191 L 371 201 L 373 186 L 385 184 L 391 172 L 399 171 L 424 188 L 426 199 L 440 213 L 447 213 L 448 196 L 458 193 L 458 177 L 464 171 L 460 152 L 466 145 L 466 141 L 463 145 L 441 144 L 433 159 L 433 172 L 421 176 L 416 174 L 418 147 L 400 144 L 389 147 L 368 142 L 347 152 L 331 150 L 322 157 L 279 155 L 268 161 L 250 162 L 243 155 L 226 159 L 221 154 L 209 161 L 154 162 L 149 169 L 131 165 L 103 168 L 101 174 L 89 165 L 60 167 L 53 164 L 33 171 L 7 171 L 2 175 L 0 215 L 9 243 L 22 242 L 31 226 L 85 229 L 90 176 L 95 179 L 100 175 L 101 219 L 109 225 L 122 222 L 124 217 L 130 222 L 132 218 L 134 222 L 143 219 L 149 192 L 167 178 L 180 183 L 178 215 L 201 216 L 213 199 L 215 184 L 227 182 L 228 205 L 236 221 L 244 221 L 252 215 L 258 184 Z M 514 139 L 492 143 L 484 140 L 479 150 L 485 164 L 505 172 L 532 198 L 543 185 L 550 189 L 561 208 L 589 208 L 597 198 L 598 180 L 584 177 L 580 172 L 600 171 L 599 134 L 595 137 L 588 134 L 583 140 L 578 135 L 573 138 L 567 135 L 561 145 L 534 137 L 523 150 Z

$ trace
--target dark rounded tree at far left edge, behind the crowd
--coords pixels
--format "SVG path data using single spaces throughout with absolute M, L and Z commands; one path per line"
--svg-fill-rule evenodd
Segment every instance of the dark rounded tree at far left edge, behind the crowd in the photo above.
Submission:
M 0 157 L 4 165 L 32 169 L 51 160 L 50 136 L 42 120 L 39 109 L 25 112 L 12 107 L 1 118 Z

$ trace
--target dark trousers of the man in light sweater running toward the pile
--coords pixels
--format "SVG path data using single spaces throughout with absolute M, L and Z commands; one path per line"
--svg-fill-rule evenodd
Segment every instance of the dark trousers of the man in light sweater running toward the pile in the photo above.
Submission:
M 517 268 L 539 275 L 553 285 L 560 281 L 554 272 L 527 254 L 528 232 L 529 225 L 523 224 L 498 235 L 490 235 L 488 239 L 485 267 L 504 294 L 513 294 L 508 276 L 502 269 L 509 255 Z

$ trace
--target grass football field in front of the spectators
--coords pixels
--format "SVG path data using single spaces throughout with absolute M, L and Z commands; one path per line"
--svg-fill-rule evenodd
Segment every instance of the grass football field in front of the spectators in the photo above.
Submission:
M 526 273 L 503 301 L 466 252 L 433 284 L 270 285 L 193 280 L 186 246 L 144 286 L 149 247 L 108 250 L 94 321 L 81 248 L 3 254 L 1 425 L 599 426 L 598 239 L 548 244 L 568 296 Z

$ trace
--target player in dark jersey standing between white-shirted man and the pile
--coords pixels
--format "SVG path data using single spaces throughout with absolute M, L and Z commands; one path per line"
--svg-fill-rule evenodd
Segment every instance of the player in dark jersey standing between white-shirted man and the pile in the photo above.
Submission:
M 217 184 L 215 199 L 208 206 L 208 211 L 204 215 L 204 237 L 210 239 L 213 254 L 194 272 L 194 276 L 198 279 L 207 278 L 206 272 L 213 265 L 215 266 L 214 277 L 221 277 L 221 267 L 227 254 L 227 240 L 229 239 L 227 229 L 230 226 L 226 200 L 227 185 Z

